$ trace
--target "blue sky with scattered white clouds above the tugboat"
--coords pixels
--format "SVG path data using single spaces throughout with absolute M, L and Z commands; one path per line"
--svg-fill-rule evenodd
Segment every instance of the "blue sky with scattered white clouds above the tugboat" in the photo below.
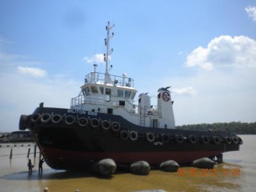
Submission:
M 176 125 L 256 122 L 256 1 L 0 0 L 0 132 L 70 107 L 94 60 L 104 72 L 108 21 L 111 74 L 172 86 Z

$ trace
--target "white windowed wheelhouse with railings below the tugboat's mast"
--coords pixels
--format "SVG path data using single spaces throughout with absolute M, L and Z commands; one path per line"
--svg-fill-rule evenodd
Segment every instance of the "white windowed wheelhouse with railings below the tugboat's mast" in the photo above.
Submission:
M 123 76 L 113 76 L 100 72 L 91 72 L 84 78 L 84 84 L 81 86 L 81 92 L 77 97 L 72 98 L 71 108 L 83 109 L 83 106 L 93 106 L 100 111 L 109 113 L 110 106 L 124 107 L 132 112 L 134 109 L 134 97 L 137 90 L 133 88 L 134 80 Z

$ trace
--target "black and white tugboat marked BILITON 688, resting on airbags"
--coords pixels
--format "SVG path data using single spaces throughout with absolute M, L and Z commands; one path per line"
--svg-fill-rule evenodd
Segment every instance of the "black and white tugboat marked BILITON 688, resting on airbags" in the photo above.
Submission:
M 105 73 L 97 72 L 95 64 L 69 109 L 40 103 L 31 115 L 20 116 L 19 129 L 31 131 L 51 168 L 81 169 L 106 158 L 117 165 L 142 160 L 157 165 L 170 159 L 187 164 L 239 150 L 243 141 L 232 132 L 175 129 L 170 87 L 157 90 L 156 107 L 147 93 L 140 93 L 135 104 L 134 80 L 109 74 L 113 26 L 106 26 Z

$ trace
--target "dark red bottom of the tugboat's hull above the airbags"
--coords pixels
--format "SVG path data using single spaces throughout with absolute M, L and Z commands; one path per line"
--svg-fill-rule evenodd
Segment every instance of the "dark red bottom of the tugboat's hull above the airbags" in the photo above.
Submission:
M 49 166 L 56 169 L 70 169 L 100 159 L 113 159 L 117 164 L 131 164 L 136 161 L 147 161 L 149 164 L 160 164 L 167 160 L 186 164 L 202 157 L 221 154 L 221 151 L 182 151 L 182 152 L 74 152 L 56 148 L 42 149 Z

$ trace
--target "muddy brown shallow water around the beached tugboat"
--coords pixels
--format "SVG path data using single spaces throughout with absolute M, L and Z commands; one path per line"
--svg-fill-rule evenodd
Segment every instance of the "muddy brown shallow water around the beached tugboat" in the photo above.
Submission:
M 138 191 L 164 189 L 166 191 L 255 191 L 256 188 L 256 136 L 242 135 L 244 144 L 239 152 L 224 154 L 223 164 L 216 166 L 216 172 L 207 173 L 200 169 L 184 168 L 184 175 L 158 170 L 150 175 L 139 176 L 118 173 L 108 179 L 86 173 L 56 171 L 44 164 L 44 173 L 38 175 L 37 166 L 28 175 L 26 153 L 29 147 L 0 148 L 0 191 Z M 6 145 L 6 144 L 1 144 Z M 19 144 L 20 145 L 20 144 Z M 26 143 L 28 145 L 28 143 Z M 31 152 L 33 152 L 33 147 Z M 16 155 L 20 154 L 20 155 Z M 30 154 L 33 164 L 38 164 Z M 192 172 L 193 171 L 193 172 Z

